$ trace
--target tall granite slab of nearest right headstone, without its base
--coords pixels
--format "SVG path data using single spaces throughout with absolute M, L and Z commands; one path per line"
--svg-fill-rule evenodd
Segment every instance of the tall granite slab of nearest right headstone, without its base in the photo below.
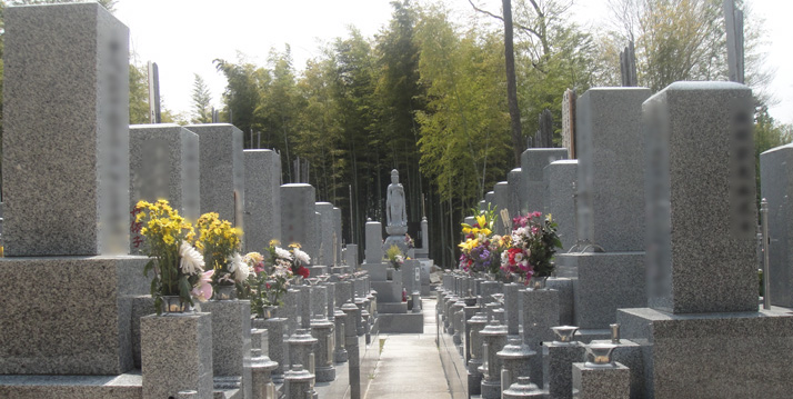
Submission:
M 644 102 L 650 307 L 757 309 L 753 103 L 733 82 L 672 83 Z

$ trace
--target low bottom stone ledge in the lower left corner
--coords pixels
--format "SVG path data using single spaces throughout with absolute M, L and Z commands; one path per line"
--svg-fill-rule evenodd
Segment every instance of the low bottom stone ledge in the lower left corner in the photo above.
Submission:
M 140 370 L 121 376 L 0 376 L 0 398 L 140 399 Z

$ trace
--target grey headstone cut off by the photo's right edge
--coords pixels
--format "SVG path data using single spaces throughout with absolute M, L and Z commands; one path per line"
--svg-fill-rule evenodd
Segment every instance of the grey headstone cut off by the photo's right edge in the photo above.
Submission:
M 771 303 L 793 308 L 793 144 L 760 154 L 760 182 L 769 201 Z

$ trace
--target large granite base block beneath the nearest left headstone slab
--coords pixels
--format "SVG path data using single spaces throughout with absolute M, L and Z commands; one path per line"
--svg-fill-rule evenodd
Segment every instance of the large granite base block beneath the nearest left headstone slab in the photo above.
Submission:
M 0 375 L 133 368 L 132 298 L 144 257 L 0 258 Z

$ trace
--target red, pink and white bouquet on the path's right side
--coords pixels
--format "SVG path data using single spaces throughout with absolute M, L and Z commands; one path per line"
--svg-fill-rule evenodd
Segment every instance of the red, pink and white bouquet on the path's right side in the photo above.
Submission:
M 562 241 L 556 235 L 556 223 L 549 213 L 526 213 L 512 219 L 510 245 L 501 255 L 501 268 L 506 273 L 518 275 L 526 281 L 532 277 L 548 278 L 553 273 L 551 262 Z

